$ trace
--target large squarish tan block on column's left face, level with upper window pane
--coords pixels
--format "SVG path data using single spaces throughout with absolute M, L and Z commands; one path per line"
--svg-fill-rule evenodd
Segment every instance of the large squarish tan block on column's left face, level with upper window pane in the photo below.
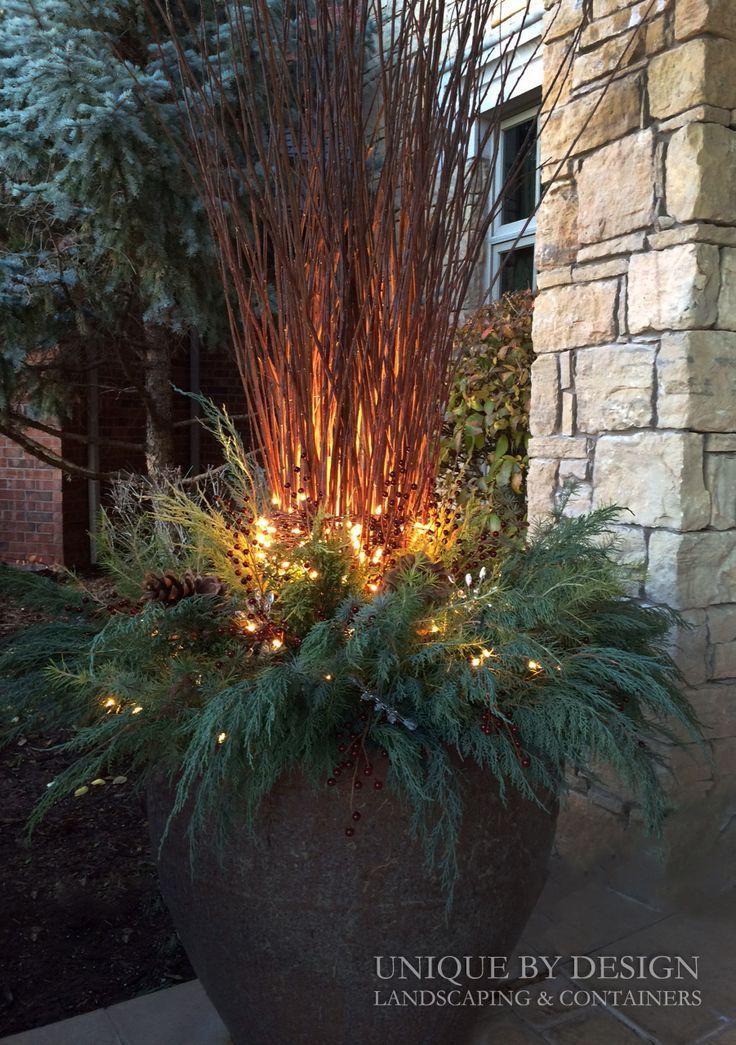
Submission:
M 653 136 L 647 130 L 604 145 L 583 160 L 577 180 L 581 243 L 651 225 L 653 154 Z

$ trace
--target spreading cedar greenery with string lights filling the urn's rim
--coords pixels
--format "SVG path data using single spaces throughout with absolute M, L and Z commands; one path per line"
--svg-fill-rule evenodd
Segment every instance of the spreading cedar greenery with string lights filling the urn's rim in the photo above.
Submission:
M 114 530 L 104 524 L 105 547 L 138 591 L 165 545 L 175 573 L 214 573 L 226 594 L 106 607 L 83 588 L 2 572 L 6 595 L 55 612 L 0 655 L 8 718 L 41 707 L 73 726 L 78 756 L 34 820 L 107 771 L 165 770 L 174 813 L 192 804 L 192 842 L 204 823 L 225 838 L 228 807 L 254 818 L 283 774 L 303 770 L 324 788 L 347 720 L 361 724 L 354 771 L 388 752 L 386 785 L 410 802 L 447 885 L 463 793 L 453 756 L 535 802 L 562 789 L 566 766 L 606 764 L 648 827 L 661 825 L 659 742 L 673 729 L 696 737 L 697 723 L 666 649 L 676 614 L 626 597 L 617 509 L 558 514 L 518 548 L 488 534 L 487 509 L 440 506 L 376 584 L 361 555 L 370 543 L 356 549 L 340 520 L 266 508 L 227 418 L 213 418 L 230 440 L 221 492 L 147 481 Z M 143 535 L 135 548 L 131 533 Z

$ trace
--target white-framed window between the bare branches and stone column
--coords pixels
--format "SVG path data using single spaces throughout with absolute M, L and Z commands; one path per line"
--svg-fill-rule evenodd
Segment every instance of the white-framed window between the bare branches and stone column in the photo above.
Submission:
M 501 205 L 490 229 L 487 285 L 491 296 L 534 285 L 534 232 L 539 200 L 537 112 L 516 113 L 501 123 L 493 195 Z

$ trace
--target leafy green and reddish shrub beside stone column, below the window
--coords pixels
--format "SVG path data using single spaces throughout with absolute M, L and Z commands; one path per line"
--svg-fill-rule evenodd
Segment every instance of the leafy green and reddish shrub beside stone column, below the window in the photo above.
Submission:
M 460 329 L 442 438 L 440 490 L 480 496 L 508 537 L 526 518 L 533 301 L 530 291 L 506 295 Z

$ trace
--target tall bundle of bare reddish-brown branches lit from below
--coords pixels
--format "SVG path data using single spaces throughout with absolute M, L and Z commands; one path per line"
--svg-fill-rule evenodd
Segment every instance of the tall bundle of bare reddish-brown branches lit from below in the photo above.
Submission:
M 274 503 L 421 515 L 528 9 L 504 34 L 502 0 L 150 6 Z

